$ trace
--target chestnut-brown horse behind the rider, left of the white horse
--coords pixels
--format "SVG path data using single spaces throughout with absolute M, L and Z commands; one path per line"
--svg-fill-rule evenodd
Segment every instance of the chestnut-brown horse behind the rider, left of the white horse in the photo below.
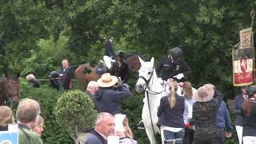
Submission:
M 130 73 L 132 71 L 138 71 L 141 67 L 138 54 L 128 54 L 124 58 L 124 61 L 128 64 Z M 107 71 L 104 71 L 103 73 L 106 72 Z M 98 78 L 101 78 L 101 74 L 98 74 L 97 72 L 97 66 L 90 66 L 89 63 L 78 66 L 78 68 L 74 71 L 74 75 L 78 83 L 83 86 L 83 90 L 86 90 L 87 84 L 90 81 L 97 81 Z

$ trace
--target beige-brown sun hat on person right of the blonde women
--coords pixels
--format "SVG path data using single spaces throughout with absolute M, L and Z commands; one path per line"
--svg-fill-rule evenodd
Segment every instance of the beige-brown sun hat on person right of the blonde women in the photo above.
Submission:
M 193 95 L 197 102 L 209 102 L 214 97 L 214 89 L 210 86 L 201 86 Z

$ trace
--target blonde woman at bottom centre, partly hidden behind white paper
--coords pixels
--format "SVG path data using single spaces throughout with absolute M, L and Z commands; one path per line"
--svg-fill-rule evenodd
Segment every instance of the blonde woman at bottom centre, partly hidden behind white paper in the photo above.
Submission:
M 126 117 L 126 115 L 116 114 L 115 115 L 116 118 L 117 118 L 117 115 L 124 116 L 124 118 L 122 120 L 123 130 L 118 130 L 117 131 L 117 135 L 119 136 L 119 143 L 122 143 L 122 144 L 137 144 L 138 142 L 133 139 L 134 134 L 130 130 L 129 121 L 128 121 L 128 118 Z M 116 126 L 118 126 L 118 124 L 116 124 Z

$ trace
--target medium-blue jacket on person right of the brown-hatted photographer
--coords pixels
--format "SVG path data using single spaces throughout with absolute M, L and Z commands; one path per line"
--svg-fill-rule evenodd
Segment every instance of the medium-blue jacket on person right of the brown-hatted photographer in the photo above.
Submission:
M 226 128 L 226 131 L 231 131 L 231 120 L 230 120 L 230 114 L 229 111 L 226 109 L 225 102 L 221 102 L 221 104 L 218 107 L 218 113 L 217 113 L 217 126 L 218 129 L 224 129 Z

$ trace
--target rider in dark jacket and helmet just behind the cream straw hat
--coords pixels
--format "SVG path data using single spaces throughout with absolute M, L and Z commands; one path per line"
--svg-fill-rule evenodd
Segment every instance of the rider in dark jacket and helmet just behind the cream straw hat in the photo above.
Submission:
M 118 62 L 112 66 L 110 74 L 116 77 L 120 77 L 122 83 L 127 83 L 129 78 L 129 68 L 126 62 L 123 61 L 125 54 L 122 50 L 117 52 Z

